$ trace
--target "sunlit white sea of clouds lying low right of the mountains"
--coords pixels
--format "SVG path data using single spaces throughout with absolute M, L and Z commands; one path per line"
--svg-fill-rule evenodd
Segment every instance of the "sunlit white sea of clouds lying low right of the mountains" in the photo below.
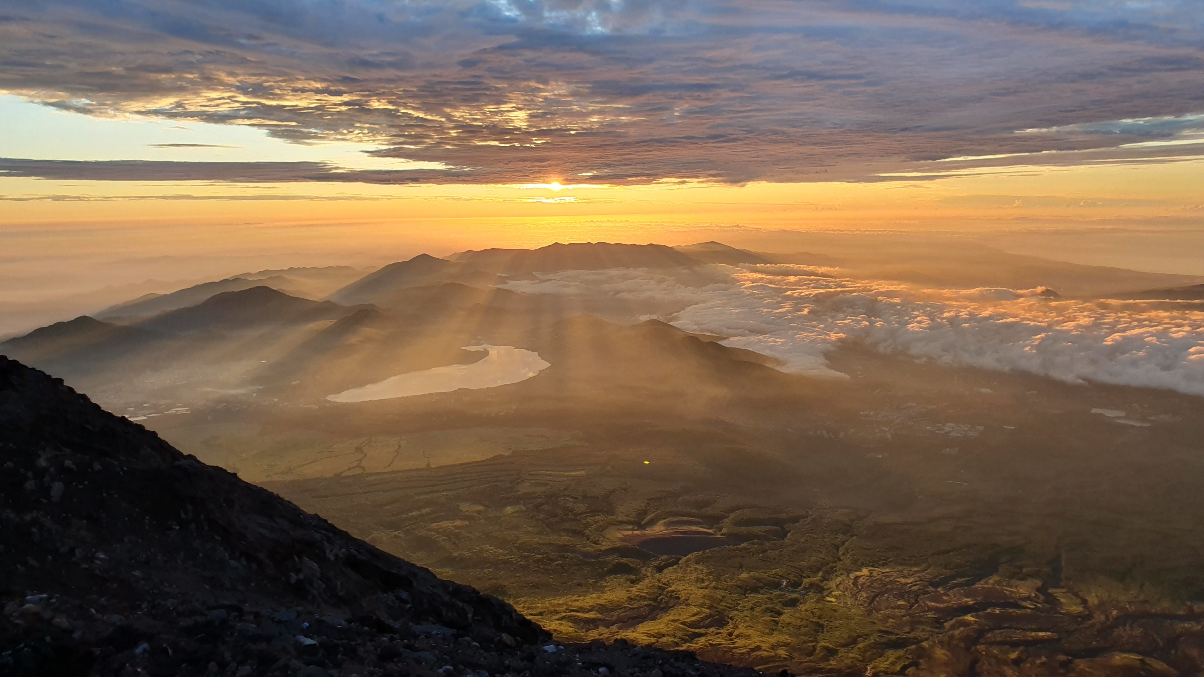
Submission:
M 1039 289 L 917 289 L 802 266 L 716 267 L 727 276 L 703 285 L 615 269 L 507 287 L 604 294 L 633 307 L 672 301 L 680 310 L 662 319 L 730 336 L 725 345 L 778 358 L 795 373 L 842 377 L 825 354 L 851 340 L 943 364 L 1204 395 L 1204 310 L 1051 299 Z

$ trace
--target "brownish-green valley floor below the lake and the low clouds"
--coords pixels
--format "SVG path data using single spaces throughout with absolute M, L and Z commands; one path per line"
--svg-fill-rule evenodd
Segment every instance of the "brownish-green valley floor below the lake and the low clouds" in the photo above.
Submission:
M 438 417 L 276 418 L 312 443 L 246 459 L 220 454 L 253 429 L 160 431 L 565 641 L 814 675 L 1204 669 L 1196 398 L 854 348 L 833 364 L 852 378 L 724 416 L 491 412 L 461 392 Z M 287 476 L 265 470 L 281 454 Z M 674 535 L 718 547 L 637 547 Z

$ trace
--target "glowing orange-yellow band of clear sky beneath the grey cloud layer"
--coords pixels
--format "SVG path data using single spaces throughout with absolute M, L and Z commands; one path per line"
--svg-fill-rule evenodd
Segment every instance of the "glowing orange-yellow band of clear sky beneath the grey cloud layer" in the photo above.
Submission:
M 1204 214 L 1200 176 L 1204 160 L 1193 159 L 991 167 L 967 176 L 878 183 L 666 182 L 560 189 L 0 178 L 6 194 L 26 198 L 5 202 L 0 228 L 10 252 L 201 252 L 229 247 L 236 232 L 247 251 L 284 246 L 371 257 L 380 247 L 449 252 L 571 240 L 673 241 L 674 232 L 700 225 L 967 231 L 1180 226 L 1199 223 Z

